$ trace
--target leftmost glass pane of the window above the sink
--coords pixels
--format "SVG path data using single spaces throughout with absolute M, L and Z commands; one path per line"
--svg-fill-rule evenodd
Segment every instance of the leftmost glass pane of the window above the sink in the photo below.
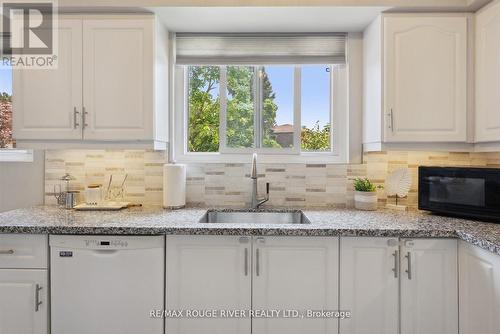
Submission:
M 220 69 L 189 66 L 189 152 L 219 151 Z

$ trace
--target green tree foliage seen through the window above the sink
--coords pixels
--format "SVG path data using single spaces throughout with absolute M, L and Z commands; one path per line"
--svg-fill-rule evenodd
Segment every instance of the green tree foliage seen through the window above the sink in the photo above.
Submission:
M 251 66 L 228 66 L 227 79 L 227 146 L 252 148 L 254 143 L 254 78 L 257 73 Z M 276 141 L 273 128 L 277 126 L 278 105 L 272 83 L 261 69 L 262 85 L 262 146 L 282 148 Z M 220 74 L 218 66 L 190 66 L 189 80 L 189 152 L 218 152 L 220 125 Z M 330 150 L 331 127 L 320 128 L 319 122 L 301 129 L 301 149 L 305 151 Z

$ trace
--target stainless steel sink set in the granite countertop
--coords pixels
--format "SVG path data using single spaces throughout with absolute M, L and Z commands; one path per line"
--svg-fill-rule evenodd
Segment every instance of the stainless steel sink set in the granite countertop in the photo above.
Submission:
M 300 210 L 208 210 L 200 223 L 204 224 L 310 224 Z

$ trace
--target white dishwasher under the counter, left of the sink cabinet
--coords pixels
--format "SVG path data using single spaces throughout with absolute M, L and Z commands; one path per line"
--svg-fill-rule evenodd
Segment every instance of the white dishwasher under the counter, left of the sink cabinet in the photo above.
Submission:
M 162 334 L 164 236 L 50 236 L 52 334 Z

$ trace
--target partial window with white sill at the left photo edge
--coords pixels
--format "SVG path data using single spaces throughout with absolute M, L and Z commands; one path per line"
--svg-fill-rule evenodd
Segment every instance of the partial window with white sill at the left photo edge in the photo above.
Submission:
M 16 149 L 12 138 L 12 69 L 0 67 L 0 162 L 31 162 L 31 150 Z

